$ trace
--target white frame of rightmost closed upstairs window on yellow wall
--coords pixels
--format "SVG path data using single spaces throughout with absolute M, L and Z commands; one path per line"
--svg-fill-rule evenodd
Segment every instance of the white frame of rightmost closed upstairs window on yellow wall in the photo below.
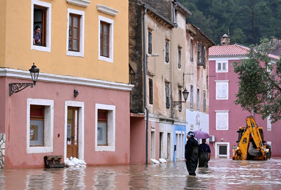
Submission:
M 106 22 L 109 24 L 109 57 L 101 56 L 100 55 L 100 22 Z M 113 31 L 114 31 L 114 20 L 100 16 L 99 15 L 99 27 L 98 27 L 98 54 L 99 60 L 107 61 L 109 63 L 113 63 Z

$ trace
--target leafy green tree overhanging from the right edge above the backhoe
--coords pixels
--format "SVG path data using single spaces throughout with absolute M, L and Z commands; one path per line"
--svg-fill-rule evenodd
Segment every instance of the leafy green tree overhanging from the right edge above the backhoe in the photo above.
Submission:
M 239 79 L 235 104 L 243 110 L 254 109 L 263 119 L 270 116 L 271 123 L 275 123 L 281 119 L 281 58 L 271 64 L 268 42 L 261 38 L 259 45 L 250 46 L 248 59 L 231 65 Z

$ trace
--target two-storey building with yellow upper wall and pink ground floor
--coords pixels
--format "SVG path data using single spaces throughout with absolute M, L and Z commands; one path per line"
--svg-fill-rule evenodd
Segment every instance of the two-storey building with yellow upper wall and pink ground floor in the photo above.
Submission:
M 128 2 L 2 0 L 0 14 L 5 168 L 45 167 L 45 155 L 128 164 Z

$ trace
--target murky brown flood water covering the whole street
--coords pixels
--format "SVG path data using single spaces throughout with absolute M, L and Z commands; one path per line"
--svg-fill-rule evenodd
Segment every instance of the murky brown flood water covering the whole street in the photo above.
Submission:
M 5 169 L 0 189 L 281 189 L 281 158 L 212 158 L 189 176 L 185 162 L 160 165 Z

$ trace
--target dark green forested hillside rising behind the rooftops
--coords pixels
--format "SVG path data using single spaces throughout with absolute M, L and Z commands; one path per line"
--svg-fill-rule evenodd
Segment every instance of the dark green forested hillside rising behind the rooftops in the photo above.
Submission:
M 223 34 L 230 43 L 252 44 L 252 0 L 178 0 L 192 15 L 186 21 L 201 28 L 216 44 Z M 254 43 L 281 38 L 281 0 L 254 0 Z

